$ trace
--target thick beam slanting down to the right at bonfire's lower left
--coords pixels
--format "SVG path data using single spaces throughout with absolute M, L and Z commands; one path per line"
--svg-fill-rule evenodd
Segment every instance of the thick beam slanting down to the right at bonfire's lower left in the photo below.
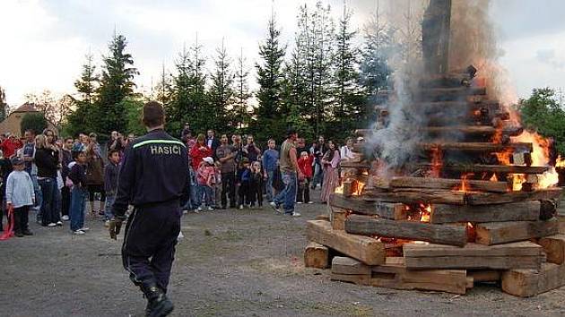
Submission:
M 365 264 L 378 265 L 385 262 L 384 244 L 367 236 L 355 236 L 334 230 L 327 221 L 308 221 L 306 234 L 310 241 L 326 245 Z

